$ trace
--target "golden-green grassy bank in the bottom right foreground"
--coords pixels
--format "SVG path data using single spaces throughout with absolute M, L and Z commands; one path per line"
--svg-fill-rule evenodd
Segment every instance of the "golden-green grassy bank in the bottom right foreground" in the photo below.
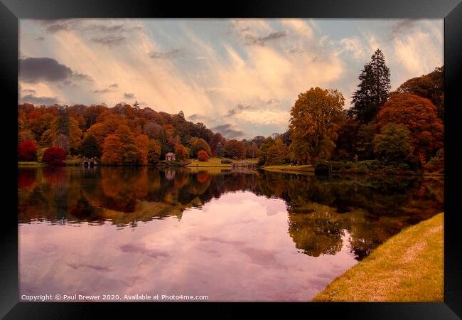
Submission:
M 443 302 L 444 213 L 402 230 L 313 302 Z

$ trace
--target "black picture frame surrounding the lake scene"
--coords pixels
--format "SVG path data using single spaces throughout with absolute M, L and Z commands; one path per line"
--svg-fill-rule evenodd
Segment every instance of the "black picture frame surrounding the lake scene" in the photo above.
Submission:
M 21 18 L 444 18 L 445 64 L 445 279 L 442 303 L 45 303 L 18 302 L 18 223 L 17 215 L 17 131 L 14 105 L 18 103 L 18 19 Z M 147 311 L 156 316 L 168 311 L 201 317 L 235 318 L 257 309 L 259 316 L 342 316 L 343 319 L 460 319 L 462 317 L 462 250 L 458 227 L 461 225 L 457 196 L 461 157 L 456 121 L 461 119 L 462 3 L 459 0 L 291 0 L 291 1 L 121 1 L 121 0 L 0 0 L 0 82 L 4 89 L 1 137 L 4 142 L 4 181 L 1 241 L 0 316 L 4 319 L 86 319 L 95 312 L 117 317 Z M 15 136 L 16 137 L 16 136 Z M 6 146 L 5 143 L 8 142 Z M 8 155 L 11 155 L 8 157 Z M 10 170 L 11 169 L 11 170 Z M 16 194 L 15 194 L 16 193 Z M 154 311 L 154 312 L 153 312 Z

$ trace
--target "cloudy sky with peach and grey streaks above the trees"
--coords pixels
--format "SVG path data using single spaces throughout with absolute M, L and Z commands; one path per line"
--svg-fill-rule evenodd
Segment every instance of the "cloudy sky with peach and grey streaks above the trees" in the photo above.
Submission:
M 380 48 L 392 90 L 444 64 L 443 19 L 21 19 L 21 103 L 119 102 L 203 122 L 228 139 L 287 130 L 311 87 L 350 107 Z

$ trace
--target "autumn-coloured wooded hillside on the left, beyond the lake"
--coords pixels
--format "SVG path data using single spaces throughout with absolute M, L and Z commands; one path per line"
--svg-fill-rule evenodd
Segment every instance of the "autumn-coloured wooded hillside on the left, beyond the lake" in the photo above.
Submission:
M 255 158 L 263 138 L 227 140 L 203 123 L 186 121 L 183 112 L 168 114 L 124 103 L 18 106 L 18 157 L 23 161 L 43 161 L 45 152 L 53 155 L 53 164 L 72 156 L 95 157 L 108 165 L 158 164 L 168 152 L 185 160 L 200 151 L 206 154 L 201 159 Z

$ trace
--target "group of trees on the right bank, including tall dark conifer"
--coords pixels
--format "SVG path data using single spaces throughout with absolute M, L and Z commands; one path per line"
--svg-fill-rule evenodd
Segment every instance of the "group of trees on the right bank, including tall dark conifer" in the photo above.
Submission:
M 317 164 L 377 159 L 419 169 L 444 154 L 444 66 L 390 92 L 380 49 L 359 75 L 352 107 L 335 89 L 312 87 L 291 108 L 289 129 L 264 139 L 260 164 Z

